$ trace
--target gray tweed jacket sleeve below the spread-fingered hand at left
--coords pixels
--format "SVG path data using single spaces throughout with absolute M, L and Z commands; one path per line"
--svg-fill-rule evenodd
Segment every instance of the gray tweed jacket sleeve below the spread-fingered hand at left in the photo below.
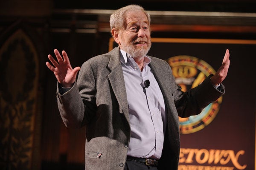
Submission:
M 95 113 L 95 79 L 89 62 L 85 62 L 77 82 L 61 94 L 57 85 L 57 102 L 61 118 L 66 126 L 79 128 L 90 122 Z

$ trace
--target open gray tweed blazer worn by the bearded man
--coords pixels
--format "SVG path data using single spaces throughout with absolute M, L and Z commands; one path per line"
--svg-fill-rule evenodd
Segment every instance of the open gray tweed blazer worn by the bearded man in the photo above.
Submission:
M 77 82 L 64 94 L 57 87 L 58 108 L 66 126 L 86 126 L 85 169 L 123 170 L 131 129 L 119 48 L 93 57 L 81 66 Z M 150 57 L 150 67 L 163 93 L 167 129 L 159 170 L 177 170 L 180 153 L 179 119 L 198 114 L 224 94 L 209 77 L 182 92 L 169 64 Z

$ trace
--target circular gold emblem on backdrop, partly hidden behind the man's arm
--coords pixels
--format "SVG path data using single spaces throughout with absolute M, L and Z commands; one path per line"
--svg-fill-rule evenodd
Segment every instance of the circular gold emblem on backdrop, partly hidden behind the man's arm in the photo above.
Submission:
M 182 91 L 198 86 L 215 70 L 205 61 L 191 56 L 175 56 L 167 60 L 172 68 L 175 81 Z M 217 115 L 222 102 L 222 96 L 215 102 L 210 103 L 204 110 L 195 116 L 180 118 L 180 133 L 194 133 L 209 125 Z

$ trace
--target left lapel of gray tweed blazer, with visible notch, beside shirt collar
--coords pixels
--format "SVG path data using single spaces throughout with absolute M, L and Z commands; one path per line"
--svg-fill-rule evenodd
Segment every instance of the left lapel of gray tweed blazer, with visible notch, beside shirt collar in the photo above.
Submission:
M 113 49 L 108 68 L 110 69 L 110 74 L 108 74 L 108 79 L 111 83 L 111 87 L 116 96 L 117 102 L 119 104 L 119 113 L 124 113 L 125 118 L 129 122 L 128 113 L 128 102 L 125 90 L 125 79 L 122 72 L 122 65 L 120 62 L 119 48 Z

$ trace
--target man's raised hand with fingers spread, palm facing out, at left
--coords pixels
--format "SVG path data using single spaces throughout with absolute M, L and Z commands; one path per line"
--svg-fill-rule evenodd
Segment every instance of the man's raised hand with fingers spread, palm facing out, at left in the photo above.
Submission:
M 54 54 L 58 62 L 49 54 L 48 58 L 54 67 L 49 62 L 46 62 L 47 67 L 55 74 L 56 79 L 62 87 L 72 87 L 73 83 L 76 81 L 76 74 L 80 70 L 80 67 L 74 69 L 71 67 L 65 51 L 62 51 L 63 58 L 57 49 L 54 50 Z

